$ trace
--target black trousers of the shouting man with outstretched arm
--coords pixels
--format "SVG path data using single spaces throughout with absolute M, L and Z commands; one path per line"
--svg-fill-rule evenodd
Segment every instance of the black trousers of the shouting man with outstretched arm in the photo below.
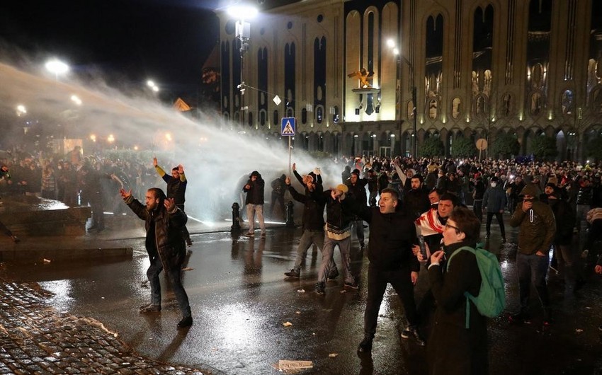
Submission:
M 364 335 L 374 337 L 378 320 L 378 311 L 385 295 L 387 284 L 391 284 L 399 299 L 402 300 L 409 325 L 417 325 L 416 301 L 414 301 L 414 284 L 411 283 L 409 267 L 398 270 L 379 270 L 370 264 L 368 267 L 368 299 L 364 313 Z

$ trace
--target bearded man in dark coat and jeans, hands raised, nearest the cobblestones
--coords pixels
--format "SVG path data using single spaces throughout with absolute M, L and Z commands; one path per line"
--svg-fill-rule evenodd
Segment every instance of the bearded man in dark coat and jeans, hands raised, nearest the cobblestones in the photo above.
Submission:
M 176 207 L 174 198 L 166 198 L 163 190 L 159 188 L 147 190 L 144 197 L 146 205 L 132 197 L 132 190 L 121 189 L 119 192 L 127 206 L 145 221 L 147 230 L 145 246 L 150 259 L 147 277 L 151 287 L 151 303 L 141 306 L 140 313 L 161 311 L 159 273 L 165 269 L 183 316 L 178 323 L 178 328 L 190 327 L 193 324 L 191 306 L 181 278 L 182 264 L 186 258 L 182 227 L 186 225 L 188 217 Z

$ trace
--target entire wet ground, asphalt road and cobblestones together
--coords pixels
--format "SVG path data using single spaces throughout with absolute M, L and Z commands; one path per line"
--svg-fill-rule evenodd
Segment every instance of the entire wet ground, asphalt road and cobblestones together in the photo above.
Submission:
M 276 374 L 272 364 L 280 359 L 312 361 L 313 368 L 302 374 L 426 374 L 424 347 L 399 336 L 404 313 L 390 288 L 372 354 L 356 354 L 368 271 L 357 241 L 353 271 L 360 289 L 344 289 L 339 277 L 319 296 L 313 291 L 319 253 L 309 251 L 300 279 L 283 275 L 293 267 L 300 229 L 268 229 L 261 239 L 259 231 L 258 238 L 218 231 L 227 226 L 213 226 L 215 233 L 192 231 L 183 280 L 194 318 L 188 330 L 176 330 L 180 316 L 164 277 L 161 313 L 137 312 L 150 292 L 144 243 L 135 235 L 143 233 L 140 228 L 91 235 L 127 244 L 131 258 L 3 262 L 0 374 L 35 374 L 28 366 L 39 366 L 39 374 Z M 517 233 L 508 228 L 509 243 L 502 246 L 496 229 L 494 224 L 486 248 L 499 254 L 507 311 L 513 311 L 518 307 Z M 427 284 L 421 272 L 417 300 Z M 555 311 L 551 328 L 541 325 L 535 298 L 532 324 L 512 325 L 506 316 L 490 321 L 490 374 L 602 374 L 601 279 L 592 277 L 575 298 L 564 296 L 557 275 L 550 275 L 549 284 Z

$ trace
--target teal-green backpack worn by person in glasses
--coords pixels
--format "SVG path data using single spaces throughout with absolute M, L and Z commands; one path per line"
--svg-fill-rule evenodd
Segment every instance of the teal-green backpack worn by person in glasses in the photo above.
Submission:
M 449 270 L 450 262 L 454 255 L 460 253 L 460 250 L 467 250 L 475 254 L 479 272 L 481 272 L 481 289 L 479 295 L 473 296 L 468 292 L 464 292 L 466 296 L 466 328 L 470 328 L 470 304 L 472 301 L 477 310 L 482 316 L 495 318 L 506 308 L 506 293 L 504 292 L 504 277 L 501 275 L 499 262 L 493 253 L 477 245 L 476 249 L 464 246 L 456 250 L 449 258 L 447 269 Z

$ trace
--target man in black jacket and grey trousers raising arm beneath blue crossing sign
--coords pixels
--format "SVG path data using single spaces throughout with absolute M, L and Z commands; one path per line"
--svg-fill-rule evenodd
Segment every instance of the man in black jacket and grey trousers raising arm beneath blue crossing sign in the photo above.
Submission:
M 317 192 L 318 194 L 322 192 L 322 185 L 315 183 L 313 178 L 307 179 L 307 183 L 305 184 L 308 192 L 307 195 L 300 194 L 290 185 L 290 177 L 285 178 L 285 184 L 293 199 L 304 204 L 302 217 L 303 234 L 299 241 L 299 246 L 297 246 L 295 267 L 289 272 L 284 272 L 286 277 L 300 277 L 301 263 L 307 256 L 309 247 L 315 244 L 321 252 L 324 248 L 324 204 L 326 202 L 318 202 L 312 198 L 311 194 L 313 192 Z M 334 279 L 339 275 L 339 270 L 336 269 L 336 264 L 332 258 L 330 258 L 329 269 L 329 279 Z

